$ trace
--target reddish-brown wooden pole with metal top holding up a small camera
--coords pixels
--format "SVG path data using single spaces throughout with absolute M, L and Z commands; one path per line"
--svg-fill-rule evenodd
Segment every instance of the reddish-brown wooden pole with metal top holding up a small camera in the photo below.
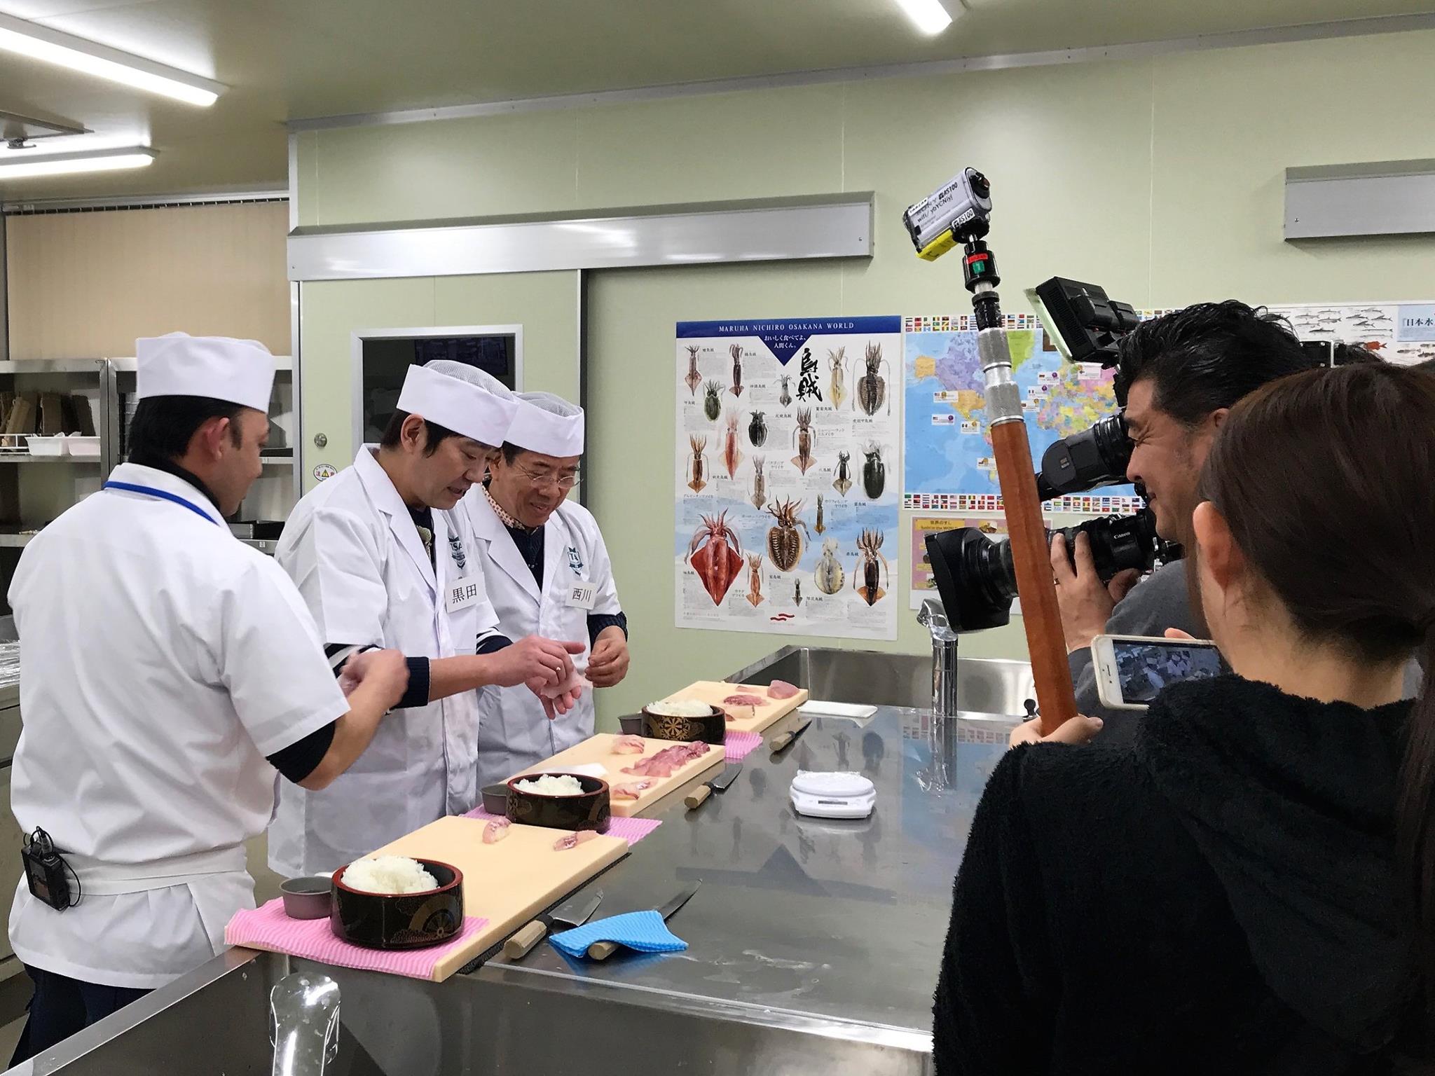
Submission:
M 1016 593 L 1022 598 L 1022 624 L 1026 648 L 1032 656 L 1032 679 L 1040 706 L 1042 733 L 1076 716 L 1076 692 L 1066 661 L 1066 634 L 1062 611 L 1056 604 L 1056 582 L 1048 554 L 1042 502 L 1032 479 L 1032 446 L 1026 439 L 1022 395 L 1012 377 L 1012 351 L 1006 341 L 1000 296 L 996 285 L 996 258 L 982 237 L 987 221 L 974 218 L 953 228 L 964 244 L 961 273 L 971 293 L 977 323 L 977 356 L 986 374 L 986 413 L 990 422 L 996 475 L 1002 486 L 1006 529 L 1012 542 L 1012 567 L 1016 568 Z

